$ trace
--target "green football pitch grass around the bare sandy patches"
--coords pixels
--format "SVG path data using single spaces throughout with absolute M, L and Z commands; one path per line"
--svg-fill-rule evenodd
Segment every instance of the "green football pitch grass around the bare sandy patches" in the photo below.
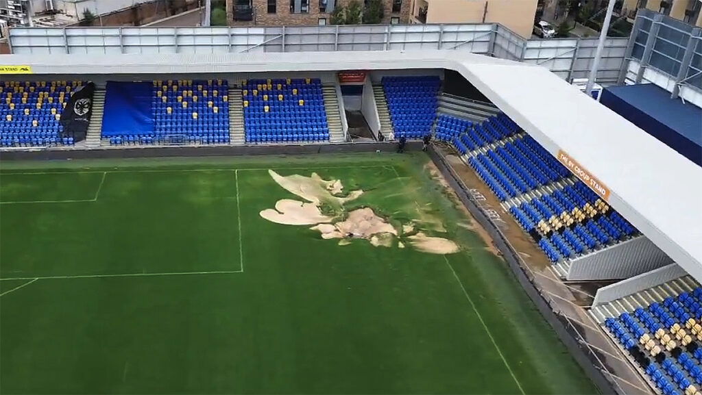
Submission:
M 0 393 L 595 393 L 429 162 L 1 163 Z M 303 200 L 269 169 L 362 189 L 342 216 L 372 208 L 460 251 L 265 220 Z

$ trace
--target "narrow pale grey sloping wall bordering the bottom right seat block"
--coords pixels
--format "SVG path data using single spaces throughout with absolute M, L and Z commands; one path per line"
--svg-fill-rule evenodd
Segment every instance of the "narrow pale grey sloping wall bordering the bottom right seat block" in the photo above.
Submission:
M 687 272 L 675 263 L 659 267 L 658 269 L 651 270 L 651 272 L 640 274 L 598 289 L 595 294 L 595 300 L 592 301 L 592 307 L 633 295 L 634 293 L 659 286 L 668 281 L 680 279 L 680 277 L 686 275 Z

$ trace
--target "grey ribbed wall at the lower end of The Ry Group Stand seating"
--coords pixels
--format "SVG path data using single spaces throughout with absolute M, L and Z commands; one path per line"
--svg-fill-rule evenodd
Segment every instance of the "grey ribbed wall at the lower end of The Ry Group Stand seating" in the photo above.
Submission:
M 639 236 L 572 260 L 567 279 L 628 279 L 671 263 L 673 260 L 647 237 Z

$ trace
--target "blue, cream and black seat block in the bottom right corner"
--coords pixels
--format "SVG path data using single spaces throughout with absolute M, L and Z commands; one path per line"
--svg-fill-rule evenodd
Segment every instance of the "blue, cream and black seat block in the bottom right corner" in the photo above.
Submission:
M 604 327 L 663 394 L 698 395 L 702 388 L 702 288 L 637 307 Z M 654 359 L 654 361 L 651 361 Z

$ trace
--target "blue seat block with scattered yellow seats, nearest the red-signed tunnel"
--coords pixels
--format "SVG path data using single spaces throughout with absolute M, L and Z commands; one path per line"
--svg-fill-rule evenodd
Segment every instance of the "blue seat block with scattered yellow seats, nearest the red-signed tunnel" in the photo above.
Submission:
M 246 142 L 329 140 L 320 79 L 252 79 L 241 88 Z

